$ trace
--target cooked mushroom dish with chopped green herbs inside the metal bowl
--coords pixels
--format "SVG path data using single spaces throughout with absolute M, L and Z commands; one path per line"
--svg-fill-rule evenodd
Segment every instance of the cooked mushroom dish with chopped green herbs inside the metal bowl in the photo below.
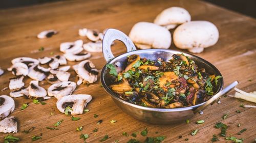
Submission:
M 179 108 L 202 103 L 214 95 L 221 76 L 210 75 L 184 54 L 174 54 L 165 62 L 139 55 L 127 57 L 126 68 L 117 73 L 106 65 L 110 88 L 128 102 L 152 108 Z

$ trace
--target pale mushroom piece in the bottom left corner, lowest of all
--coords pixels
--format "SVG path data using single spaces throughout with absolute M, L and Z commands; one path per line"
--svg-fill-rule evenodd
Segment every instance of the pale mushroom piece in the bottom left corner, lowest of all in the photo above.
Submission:
M 2 133 L 16 133 L 18 131 L 17 127 L 17 120 L 13 116 L 7 117 L 0 122 L 0 132 Z

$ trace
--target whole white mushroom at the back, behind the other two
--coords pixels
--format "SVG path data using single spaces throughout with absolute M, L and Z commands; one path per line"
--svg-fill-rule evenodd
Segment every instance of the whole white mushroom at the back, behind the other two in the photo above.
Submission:
M 177 25 L 188 22 L 191 20 L 191 16 L 187 10 L 180 7 L 170 7 L 159 13 L 154 20 L 158 25 Z

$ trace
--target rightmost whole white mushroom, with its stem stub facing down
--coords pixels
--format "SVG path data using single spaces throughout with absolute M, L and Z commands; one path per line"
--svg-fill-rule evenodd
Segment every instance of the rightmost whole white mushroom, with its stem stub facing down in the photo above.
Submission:
M 190 52 L 202 52 L 217 43 L 219 39 L 218 28 L 209 21 L 190 21 L 183 23 L 174 31 L 174 44 Z

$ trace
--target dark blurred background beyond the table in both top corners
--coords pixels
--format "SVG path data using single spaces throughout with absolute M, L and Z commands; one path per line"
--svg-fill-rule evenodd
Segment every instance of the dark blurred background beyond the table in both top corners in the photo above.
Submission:
M 0 9 L 10 9 L 10 8 L 16 8 L 16 7 L 29 6 L 29 5 L 39 5 L 39 4 L 52 3 L 57 1 L 70 1 L 70 0 L 2 0 L 0 1 Z M 256 0 L 244 0 L 244 1 L 243 0 L 204 0 L 204 1 L 256 18 Z

